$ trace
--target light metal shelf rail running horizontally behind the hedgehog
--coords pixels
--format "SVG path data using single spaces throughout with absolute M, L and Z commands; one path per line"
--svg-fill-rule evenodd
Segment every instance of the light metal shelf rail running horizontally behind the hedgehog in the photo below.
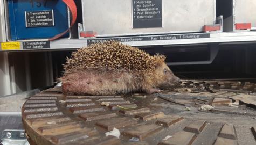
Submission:
M 161 38 L 161 39 L 160 39 Z M 163 40 L 164 38 L 164 40 Z M 86 39 L 66 39 L 50 41 L 50 48 L 24 48 L 26 42 L 47 41 L 26 41 L 19 42 L 20 49 L 2 49 L 0 51 L 13 50 L 53 50 L 53 49 L 77 49 L 88 46 L 93 42 L 102 42 L 106 40 L 117 40 L 123 44 L 131 46 L 156 46 L 156 45 L 179 45 L 179 44 L 209 44 L 225 42 L 248 42 L 256 41 L 256 31 L 248 32 L 221 32 L 221 33 L 189 33 L 189 34 L 170 34 L 170 35 L 143 35 L 137 37 L 111 37 L 111 38 L 86 38 Z M 49 41 L 48 41 L 49 42 Z M 10 42 L 9 42 L 10 43 Z

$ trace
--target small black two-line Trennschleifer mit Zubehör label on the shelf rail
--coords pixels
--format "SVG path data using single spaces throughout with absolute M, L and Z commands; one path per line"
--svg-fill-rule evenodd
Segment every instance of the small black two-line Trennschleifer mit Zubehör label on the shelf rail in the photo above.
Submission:
M 23 49 L 44 49 L 50 48 L 50 41 L 22 42 Z

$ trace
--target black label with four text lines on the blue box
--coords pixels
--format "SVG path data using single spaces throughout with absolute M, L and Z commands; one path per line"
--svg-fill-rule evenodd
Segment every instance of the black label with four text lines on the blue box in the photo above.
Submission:
M 25 11 L 26 27 L 54 26 L 53 10 Z

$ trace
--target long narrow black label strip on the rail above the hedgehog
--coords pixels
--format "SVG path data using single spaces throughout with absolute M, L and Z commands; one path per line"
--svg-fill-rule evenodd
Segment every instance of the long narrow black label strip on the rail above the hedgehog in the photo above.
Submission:
M 105 42 L 109 40 L 119 42 L 133 42 L 133 41 L 156 41 L 156 40 L 177 40 L 177 39 L 198 39 L 198 38 L 210 38 L 209 33 L 201 34 L 175 34 L 175 35 L 154 35 L 147 37 L 119 37 L 119 38 L 107 38 L 107 39 L 87 39 L 87 46 L 98 42 Z

